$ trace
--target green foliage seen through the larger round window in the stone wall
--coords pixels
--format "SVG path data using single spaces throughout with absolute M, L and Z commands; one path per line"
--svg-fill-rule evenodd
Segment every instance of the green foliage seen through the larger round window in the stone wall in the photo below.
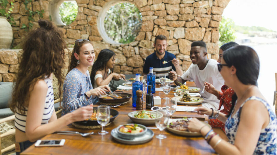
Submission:
M 141 29 L 142 15 L 131 3 L 118 3 L 112 6 L 104 19 L 107 35 L 115 42 L 133 42 Z

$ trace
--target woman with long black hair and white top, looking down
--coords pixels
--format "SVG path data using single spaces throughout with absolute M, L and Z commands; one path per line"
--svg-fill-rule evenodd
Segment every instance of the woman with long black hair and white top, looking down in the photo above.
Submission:
M 125 79 L 125 75 L 113 73 L 115 58 L 115 53 L 109 49 L 100 51 L 90 73 L 91 83 L 94 87 L 109 85 L 111 80 Z

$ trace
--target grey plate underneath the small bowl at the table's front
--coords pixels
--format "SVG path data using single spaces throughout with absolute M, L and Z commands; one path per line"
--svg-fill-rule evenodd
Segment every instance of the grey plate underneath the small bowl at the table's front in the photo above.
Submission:
M 134 139 L 124 139 L 118 136 L 117 128 L 115 128 L 111 131 L 111 136 L 120 143 L 136 145 L 136 144 L 142 144 L 150 141 L 154 136 L 154 132 L 150 129 L 147 129 L 147 132 L 142 136 L 135 137 Z

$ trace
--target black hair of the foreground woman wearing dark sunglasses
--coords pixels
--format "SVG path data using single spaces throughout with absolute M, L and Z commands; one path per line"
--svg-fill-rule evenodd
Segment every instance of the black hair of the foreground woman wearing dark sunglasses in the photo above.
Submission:
M 234 46 L 223 52 L 223 59 L 228 66 L 236 68 L 236 76 L 239 81 L 246 85 L 257 86 L 260 71 L 260 60 L 255 50 L 248 46 Z M 229 117 L 238 99 L 236 93 L 232 96 L 232 107 Z

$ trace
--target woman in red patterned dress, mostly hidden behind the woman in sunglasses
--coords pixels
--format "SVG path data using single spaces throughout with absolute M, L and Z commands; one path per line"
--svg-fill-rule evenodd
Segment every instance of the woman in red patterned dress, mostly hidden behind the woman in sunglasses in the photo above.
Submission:
M 234 46 L 238 46 L 239 44 L 235 43 L 235 42 L 228 42 L 226 44 L 223 44 L 222 46 L 220 46 L 219 49 L 219 57 L 218 57 L 218 63 L 221 62 L 221 58 L 223 55 L 223 52 L 226 51 L 228 48 L 234 47 Z M 220 65 L 220 64 L 218 64 Z M 218 66 L 219 71 L 220 71 L 220 66 Z M 205 82 L 204 84 L 206 84 L 205 90 L 208 93 L 211 93 L 213 95 L 215 95 L 218 100 L 220 100 L 219 102 L 219 107 L 218 109 L 209 109 L 211 112 L 213 111 L 213 117 L 215 117 L 215 119 L 209 119 L 209 125 L 211 125 L 212 127 L 220 127 L 224 132 L 225 132 L 225 125 L 223 122 L 221 122 L 220 120 L 216 119 L 218 117 L 218 113 L 219 110 L 221 109 L 221 107 L 223 106 L 224 109 L 220 110 L 220 112 L 224 113 L 224 114 L 228 114 L 230 112 L 230 109 L 232 107 L 232 95 L 235 93 L 234 90 L 231 87 L 228 87 L 226 84 L 224 84 L 221 87 L 221 91 L 218 91 L 217 89 L 215 89 L 215 87 L 208 82 Z

